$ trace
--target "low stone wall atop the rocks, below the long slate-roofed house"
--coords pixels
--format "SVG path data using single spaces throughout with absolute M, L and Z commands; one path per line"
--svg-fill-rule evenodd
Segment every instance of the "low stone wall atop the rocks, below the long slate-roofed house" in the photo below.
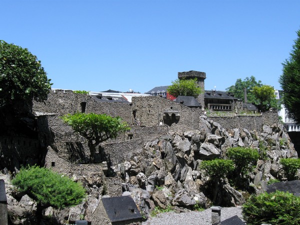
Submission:
M 225 129 L 246 128 L 260 131 L 263 124 L 278 124 L 278 114 L 275 111 L 263 112 L 260 115 L 207 116 L 219 123 Z

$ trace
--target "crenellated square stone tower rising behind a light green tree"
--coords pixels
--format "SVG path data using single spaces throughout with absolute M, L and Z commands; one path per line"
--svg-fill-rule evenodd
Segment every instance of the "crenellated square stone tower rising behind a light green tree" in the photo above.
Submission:
M 178 72 L 178 79 L 194 79 L 197 78 L 197 86 L 201 87 L 201 93 L 196 98 L 197 101 L 204 108 L 204 79 L 206 78 L 205 72 L 190 70 L 187 72 Z

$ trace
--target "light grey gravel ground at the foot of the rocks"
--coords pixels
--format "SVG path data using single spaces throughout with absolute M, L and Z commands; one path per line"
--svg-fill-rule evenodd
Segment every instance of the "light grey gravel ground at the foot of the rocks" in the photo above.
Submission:
M 242 219 L 241 206 L 237 207 L 222 207 L 221 221 L 237 215 Z M 156 217 L 151 217 L 147 221 L 142 222 L 142 225 L 211 225 L 211 209 L 207 208 L 204 211 L 191 212 L 167 212 L 158 214 Z

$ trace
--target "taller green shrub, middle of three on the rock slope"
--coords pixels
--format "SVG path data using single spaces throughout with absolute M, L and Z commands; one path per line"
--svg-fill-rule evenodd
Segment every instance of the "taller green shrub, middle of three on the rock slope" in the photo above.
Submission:
M 249 147 L 230 147 L 226 156 L 235 164 L 235 175 L 244 177 L 252 171 L 253 165 L 259 158 L 258 151 Z

